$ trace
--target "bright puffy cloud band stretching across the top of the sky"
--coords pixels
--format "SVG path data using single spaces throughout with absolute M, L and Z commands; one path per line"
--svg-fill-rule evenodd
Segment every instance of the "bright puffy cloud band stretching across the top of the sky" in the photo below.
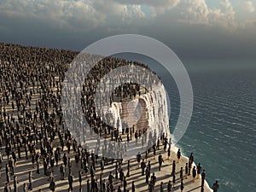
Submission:
M 243 4 L 249 12 L 254 11 L 251 1 Z M 220 2 L 218 9 L 210 8 L 206 0 L 0 1 L 0 16 L 6 20 L 34 20 L 69 32 L 89 32 L 104 26 L 111 31 L 120 27 L 146 26 L 150 20 L 160 21 L 166 15 L 172 15 L 168 19 L 172 24 L 181 22 L 183 25 L 222 26 L 234 30 L 246 23 L 246 20 L 243 24 L 236 21 L 237 14 L 230 0 Z

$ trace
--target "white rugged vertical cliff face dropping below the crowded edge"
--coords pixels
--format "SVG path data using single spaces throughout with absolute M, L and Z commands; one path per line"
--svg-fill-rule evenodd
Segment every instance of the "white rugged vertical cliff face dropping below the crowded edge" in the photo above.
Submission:
M 111 108 L 109 108 L 113 116 L 113 125 L 118 127 L 119 131 L 121 131 L 124 126 L 123 121 L 125 121 L 124 128 L 126 128 L 127 125 L 128 127 L 135 125 L 141 118 L 142 113 L 144 113 L 139 100 L 143 100 L 143 102 L 146 103 L 146 118 L 148 119 L 149 130 L 156 131 L 158 136 L 160 136 L 161 132 L 166 132 L 167 136 L 170 136 L 167 96 L 163 84 L 152 87 L 152 90 L 147 94 L 143 94 L 131 102 L 128 102 L 126 110 L 129 116 L 123 119 L 121 117 L 125 109 L 122 108 L 122 103 L 113 102 Z

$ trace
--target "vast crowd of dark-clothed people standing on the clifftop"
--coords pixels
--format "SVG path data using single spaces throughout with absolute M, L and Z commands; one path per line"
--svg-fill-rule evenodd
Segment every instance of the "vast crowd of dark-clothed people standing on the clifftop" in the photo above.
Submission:
M 33 190 L 36 175 L 47 177 L 48 181 L 44 181 L 49 184 L 48 189 L 51 191 L 75 189 L 93 192 L 135 192 L 136 180 L 131 181 L 129 177 L 131 169 L 139 169 L 138 167 L 145 177 L 148 191 L 154 191 L 157 188 L 157 177 L 148 159 L 150 155 L 158 157 L 159 172 L 164 163 L 161 153 L 166 153 L 168 160 L 170 159 L 172 141 L 165 132 L 161 131 L 159 137 L 152 134 L 152 147 L 143 154 L 137 154 L 134 163 L 133 160 L 124 161 L 122 155 L 119 155 L 119 159 L 104 158 L 104 154 L 99 156 L 96 151 L 103 143 L 99 143 L 98 137 L 96 148 L 89 149 L 86 147 L 88 138 L 82 138 L 82 145 L 82 140 L 78 141 L 71 131 L 65 128 L 61 94 L 62 91 L 68 92 L 73 88 L 62 90 L 62 85 L 67 67 L 76 55 L 77 52 L 63 49 L 0 44 L 0 177 L 5 178 L 4 192 L 16 192 L 21 188 L 23 192 Z M 134 127 L 125 130 L 126 132 L 119 132 L 119 129 L 104 124 L 98 117 L 95 102 L 91 99 L 99 79 L 111 69 L 125 65 L 125 61 L 110 57 L 99 62 L 99 65 L 90 71 L 90 78 L 84 79 L 79 97 L 83 113 L 91 127 L 90 132 L 95 131 L 99 137 L 111 141 L 122 141 L 126 135 L 127 141 L 143 140 L 143 134 L 147 132 L 147 129 L 144 129 L 139 134 Z M 136 65 L 146 67 L 139 63 Z M 113 96 L 132 97 L 138 94 L 139 90 L 137 84 L 124 84 L 113 92 Z M 74 122 L 78 123 L 81 122 Z M 108 150 L 109 148 L 108 146 Z M 119 153 L 114 146 L 112 150 L 113 153 Z M 124 151 L 125 148 L 123 154 Z M 176 177 L 179 172 L 181 191 L 185 186 L 184 179 L 189 178 L 190 174 L 193 182 L 201 175 L 201 191 L 204 191 L 206 172 L 201 169 L 201 164 L 193 166 L 194 156 L 190 154 L 188 163 L 181 167 L 181 170 L 177 170 L 176 165 L 180 163 L 180 159 L 181 152 L 178 150 L 177 160 L 172 162 L 170 181 L 161 182 L 159 190 L 169 192 L 177 188 Z M 30 165 L 26 173 L 22 174 L 17 166 L 21 161 L 29 162 Z M 67 189 L 63 189 L 64 185 L 61 183 L 56 184 L 57 181 L 67 181 Z M 128 181 L 131 183 L 129 186 Z M 42 188 L 38 191 L 48 189 Z M 218 182 L 214 183 L 213 190 L 218 190 Z

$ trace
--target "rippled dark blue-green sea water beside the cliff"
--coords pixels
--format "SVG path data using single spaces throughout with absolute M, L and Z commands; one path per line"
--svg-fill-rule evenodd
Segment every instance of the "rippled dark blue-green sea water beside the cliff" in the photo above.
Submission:
M 119 55 L 120 56 L 120 55 Z M 179 94 L 170 73 L 142 55 L 121 57 L 148 64 L 163 80 L 171 103 L 170 129 L 179 115 Z M 183 61 L 194 92 L 189 127 L 177 147 L 194 153 L 220 192 L 256 191 L 256 63 L 254 61 Z

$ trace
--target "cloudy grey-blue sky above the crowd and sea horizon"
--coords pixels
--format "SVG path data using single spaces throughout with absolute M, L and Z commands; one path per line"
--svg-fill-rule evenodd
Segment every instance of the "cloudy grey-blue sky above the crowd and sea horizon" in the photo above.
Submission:
M 256 0 L 1 0 L 0 41 L 82 50 L 118 34 L 183 59 L 255 59 Z

